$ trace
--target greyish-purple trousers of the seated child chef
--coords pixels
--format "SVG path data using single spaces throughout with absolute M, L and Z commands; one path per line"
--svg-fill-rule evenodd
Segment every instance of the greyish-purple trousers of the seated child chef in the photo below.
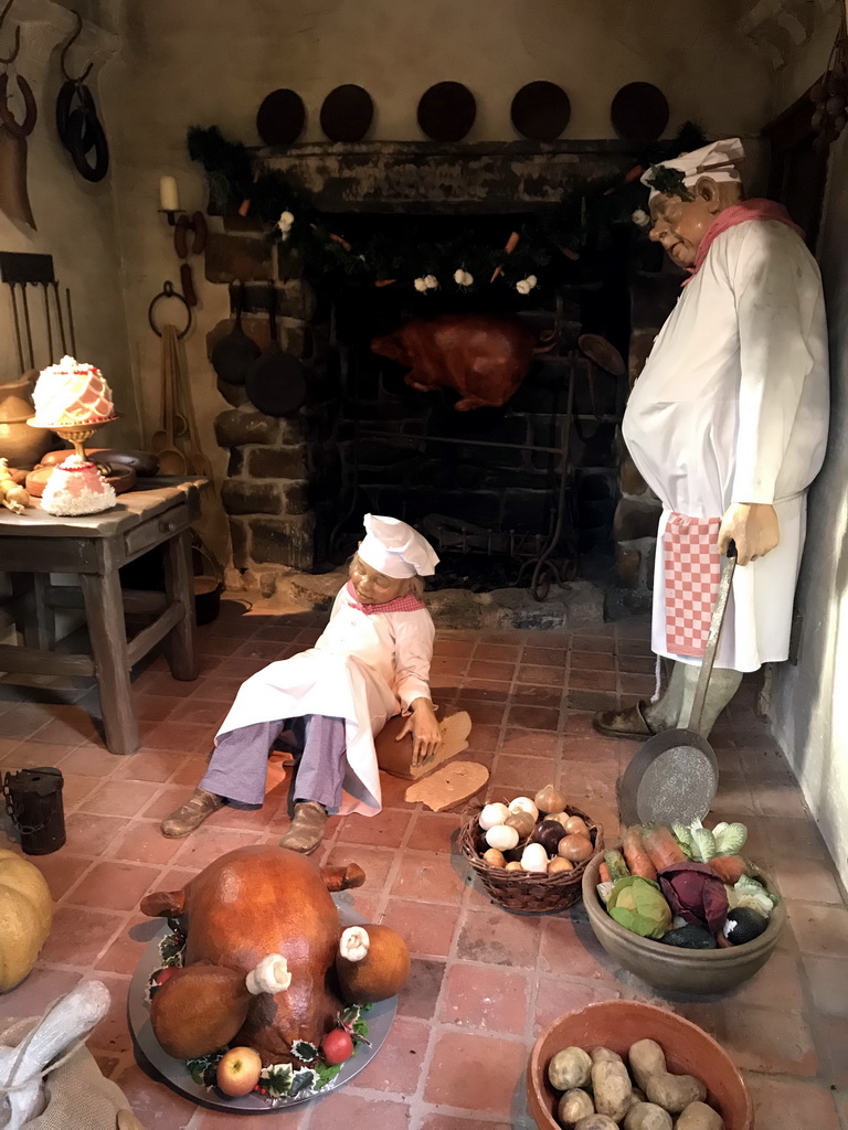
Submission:
M 241 805 L 261 805 L 268 755 L 278 741 L 296 762 L 289 809 L 296 801 L 315 800 L 328 812 L 337 812 L 347 768 L 343 718 L 306 714 L 231 730 L 218 739 L 200 788 Z

